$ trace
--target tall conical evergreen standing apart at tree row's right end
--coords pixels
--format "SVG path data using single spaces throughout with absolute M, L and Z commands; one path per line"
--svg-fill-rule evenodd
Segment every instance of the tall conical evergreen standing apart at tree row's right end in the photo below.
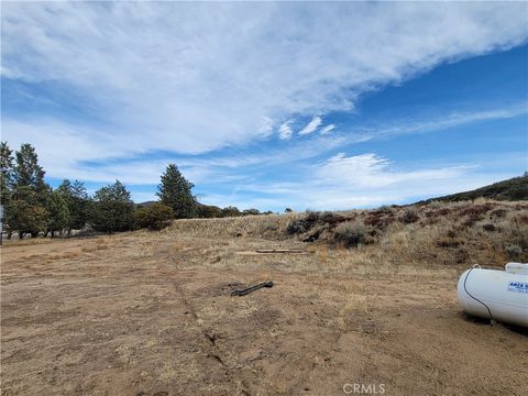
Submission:
M 162 175 L 157 186 L 157 196 L 162 204 L 170 207 L 177 219 L 188 219 L 194 216 L 196 197 L 191 190 L 195 185 L 187 180 L 175 164 L 169 164 Z

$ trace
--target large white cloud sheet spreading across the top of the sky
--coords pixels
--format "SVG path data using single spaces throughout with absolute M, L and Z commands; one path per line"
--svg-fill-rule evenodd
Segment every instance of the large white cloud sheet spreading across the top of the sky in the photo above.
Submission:
M 525 3 L 6 2 L 1 18 L 3 76 L 97 103 L 97 132 L 62 132 L 91 160 L 245 144 L 528 29 Z

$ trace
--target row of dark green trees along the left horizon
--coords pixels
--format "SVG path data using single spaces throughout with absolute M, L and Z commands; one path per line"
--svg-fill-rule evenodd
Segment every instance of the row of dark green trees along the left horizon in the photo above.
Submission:
M 157 187 L 158 201 L 135 205 L 131 194 L 119 180 L 99 188 L 92 196 L 84 183 L 63 180 L 52 188 L 44 180 L 45 172 L 31 144 L 13 151 L 7 142 L 0 144 L 1 191 L 3 228 L 7 238 L 18 233 L 55 237 L 72 234 L 73 230 L 119 232 L 147 228 L 160 230 L 172 219 L 217 218 L 261 213 L 257 209 L 239 210 L 200 204 L 193 194 L 195 187 L 169 164 Z

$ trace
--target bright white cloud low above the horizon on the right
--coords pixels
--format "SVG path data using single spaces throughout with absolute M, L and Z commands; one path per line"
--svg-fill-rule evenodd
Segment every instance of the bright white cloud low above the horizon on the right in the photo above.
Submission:
M 246 184 L 234 199 L 243 205 L 244 194 L 253 191 L 257 196 L 267 195 L 268 208 L 294 206 L 296 210 L 343 210 L 385 204 L 408 204 L 482 187 L 515 176 L 490 169 L 480 172 L 480 168 L 479 164 L 455 164 L 402 169 L 396 165 L 393 168 L 391 161 L 374 153 L 354 156 L 340 153 L 309 167 L 300 179 Z

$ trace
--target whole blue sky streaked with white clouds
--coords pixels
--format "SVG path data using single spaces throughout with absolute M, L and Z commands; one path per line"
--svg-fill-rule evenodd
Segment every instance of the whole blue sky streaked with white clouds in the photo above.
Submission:
M 528 169 L 528 4 L 7 3 L 1 127 L 47 180 L 406 204 Z

